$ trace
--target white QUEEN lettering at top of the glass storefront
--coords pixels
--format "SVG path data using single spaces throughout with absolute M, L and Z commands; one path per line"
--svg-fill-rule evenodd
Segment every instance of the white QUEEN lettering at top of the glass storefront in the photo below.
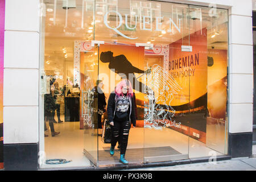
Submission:
M 118 16 L 119 19 L 119 24 L 117 27 L 110 27 L 108 24 L 108 14 L 109 13 L 115 13 Z M 134 30 L 137 27 L 137 19 L 138 19 L 138 15 L 135 15 L 135 26 L 134 27 L 130 27 L 128 25 L 128 15 L 125 14 L 125 26 L 128 30 Z M 148 20 L 146 20 L 148 19 Z M 163 17 L 155 17 L 155 31 L 163 31 L 160 27 L 162 26 L 162 19 Z M 174 32 L 174 27 L 177 29 L 177 31 L 180 32 L 180 21 L 181 19 L 178 19 L 179 23 L 177 26 L 177 24 L 174 22 L 174 20 L 172 18 L 169 18 L 169 22 L 170 22 L 170 27 L 167 30 L 167 32 Z M 148 30 L 148 31 L 152 31 L 152 23 L 150 21 L 150 16 L 142 16 L 142 21 L 143 21 L 143 26 L 142 26 L 142 30 Z M 122 26 L 123 23 L 123 18 L 122 15 L 120 13 L 118 13 L 118 11 L 108 11 L 105 15 L 104 15 L 104 24 L 106 25 L 106 27 L 114 30 L 115 32 L 117 32 L 117 34 L 123 36 L 124 38 L 127 39 L 138 39 L 138 38 L 130 38 L 129 36 L 126 36 L 125 34 L 123 34 L 122 32 L 120 32 L 118 30 L 119 27 Z M 150 28 L 146 28 L 146 26 L 150 26 Z

